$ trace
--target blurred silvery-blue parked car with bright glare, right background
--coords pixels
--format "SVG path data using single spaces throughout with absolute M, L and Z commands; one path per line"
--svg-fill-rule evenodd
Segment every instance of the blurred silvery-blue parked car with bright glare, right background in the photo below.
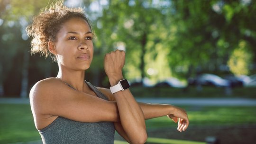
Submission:
M 213 74 L 201 74 L 196 78 L 189 78 L 188 83 L 189 85 L 212 85 L 216 87 L 231 86 L 229 80 Z

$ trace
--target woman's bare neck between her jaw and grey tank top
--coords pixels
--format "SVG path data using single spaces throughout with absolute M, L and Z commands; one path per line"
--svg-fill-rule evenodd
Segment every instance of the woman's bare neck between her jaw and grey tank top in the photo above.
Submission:
M 63 80 L 68 85 L 72 86 L 75 90 L 83 92 L 84 88 L 84 70 L 64 70 L 59 68 L 57 77 Z

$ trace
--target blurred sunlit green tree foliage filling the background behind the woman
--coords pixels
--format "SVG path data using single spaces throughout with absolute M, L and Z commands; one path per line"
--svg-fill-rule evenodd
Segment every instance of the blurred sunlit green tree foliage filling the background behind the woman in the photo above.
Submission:
M 39 10 L 55 0 L 0 1 L 0 90 L 13 89 L 20 77 L 24 51 L 29 51 L 25 27 Z M 87 80 L 107 86 L 104 54 L 126 49 L 124 75 L 130 80 L 148 77 L 153 82 L 169 76 L 187 79 L 201 72 L 253 74 L 256 62 L 255 0 L 83 0 L 97 35 L 94 59 Z M 91 8 L 99 5 L 99 10 Z M 245 42 L 243 49 L 240 42 Z M 239 59 L 237 60 L 239 55 Z M 18 62 L 17 62 L 18 61 Z M 236 62 L 235 62 L 236 61 Z M 240 72 L 237 61 L 245 69 Z M 231 71 L 219 72 L 219 66 Z M 16 72 L 14 72 L 16 71 Z M 56 76 L 50 59 L 29 60 L 29 87 Z M 242 73 L 241 73 L 242 72 Z M 9 75 L 15 76 L 9 76 Z M 11 83 L 15 82 L 15 84 Z M 1 93 L 1 92 L 0 92 Z M 10 94 L 10 93 L 8 93 Z

